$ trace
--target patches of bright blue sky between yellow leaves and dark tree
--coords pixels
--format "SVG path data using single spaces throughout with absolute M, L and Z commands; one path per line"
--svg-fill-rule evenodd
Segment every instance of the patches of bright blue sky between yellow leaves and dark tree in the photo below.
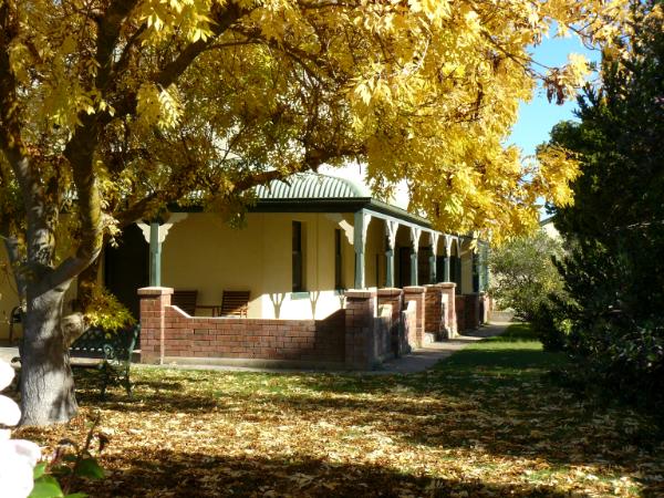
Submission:
M 561 66 L 569 53 L 581 53 L 590 61 L 599 61 L 599 51 L 587 50 L 577 38 L 549 38 L 533 50 L 535 60 L 549 65 Z M 551 127 L 562 120 L 573 120 L 574 102 L 563 105 L 549 103 L 546 94 L 538 89 L 532 101 L 519 107 L 519 120 L 512 129 L 508 143 L 521 147 L 525 155 L 535 154 L 535 148 L 549 139 Z

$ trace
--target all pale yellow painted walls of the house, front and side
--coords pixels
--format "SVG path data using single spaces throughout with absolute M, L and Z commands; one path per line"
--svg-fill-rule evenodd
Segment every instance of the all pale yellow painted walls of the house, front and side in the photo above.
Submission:
M 302 224 L 304 292 L 293 292 L 292 222 Z M 386 221 L 372 217 L 364 246 L 365 287 L 385 287 Z M 219 305 L 224 290 L 251 292 L 249 318 L 324 319 L 343 307 L 343 292 L 335 289 L 335 230 L 341 234 L 341 289 L 354 287 L 355 248 L 353 214 L 250 212 L 243 228 L 231 228 L 215 214 L 188 214 L 174 224 L 162 245 L 162 286 L 197 290 L 198 304 Z M 429 235 L 421 246 L 430 246 Z M 395 284 L 400 284 L 400 250 L 406 261 L 411 228 L 396 232 Z M 439 255 L 443 245 L 436 250 Z M 428 257 L 427 257 L 428 258 Z M 409 261 L 407 262 L 409 266 Z M 406 262 L 404 262 L 406 264 Z M 473 290 L 473 257 L 461 250 L 461 286 Z M 13 279 L 7 271 L 7 255 L 0 246 L 0 339 L 9 336 L 9 317 L 19 302 Z M 402 277 L 409 274 L 404 267 Z M 105 271 L 102 264 L 102 272 Z M 442 276 L 438 276 L 442 279 Z M 422 282 L 421 282 L 422 283 Z M 65 304 L 75 298 L 72 283 Z M 68 311 L 68 310 L 65 310 Z M 205 314 L 206 310 L 200 310 Z M 20 326 L 17 328 L 20 334 Z

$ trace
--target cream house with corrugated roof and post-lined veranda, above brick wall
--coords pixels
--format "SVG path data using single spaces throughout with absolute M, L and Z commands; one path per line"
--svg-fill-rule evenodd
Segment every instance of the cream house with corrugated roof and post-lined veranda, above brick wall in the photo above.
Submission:
M 381 289 L 402 295 L 402 289 L 447 282 L 447 298 L 434 300 L 445 308 L 436 312 L 445 315 L 444 323 L 434 319 L 439 323 L 428 330 L 421 323 L 412 345 L 421 344 L 426 333 L 450 335 L 480 321 L 478 295 L 488 278 L 485 243 L 438 232 L 426 219 L 373 198 L 345 178 L 298 174 L 288 183 L 259 187 L 257 197 L 243 228 L 196 209 L 173 209 L 162 224 L 129 227 L 117 248 L 104 251 L 106 287 L 137 317 L 139 288 L 196 291 L 191 314 L 206 320 L 219 313 L 224 291 L 245 291 L 245 326 L 252 321 L 324 321 L 347 305 L 349 289 L 377 299 L 377 313 Z M 0 313 L 8 317 L 18 299 L 4 281 L 0 286 Z M 402 321 L 398 313 L 406 301 L 400 299 L 394 321 Z M 0 336 L 8 336 L 8 326 L 2 323 Z

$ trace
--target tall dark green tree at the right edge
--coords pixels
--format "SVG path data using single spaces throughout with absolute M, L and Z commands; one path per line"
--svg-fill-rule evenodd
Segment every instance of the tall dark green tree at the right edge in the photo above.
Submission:
M 623 52 L 605 51 L 603 84 L 580 100 L 581 123 L 552 132 L 575 152 L 574 205 L 556 226 L 572 243 L 561 271 L 572 302 L 571 350 L 614 385 L 664 386 L 664 15 L 641 2 Z

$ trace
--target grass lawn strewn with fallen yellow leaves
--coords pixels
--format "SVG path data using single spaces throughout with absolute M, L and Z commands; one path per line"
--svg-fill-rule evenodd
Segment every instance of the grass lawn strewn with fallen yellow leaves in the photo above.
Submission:
M 83 385 L 76 419 L 18 435 L 82 440 L 98 413 L 92 497 L 664 496 L 655 426 L 550 384 L 563 361 L 512 325 L 413 375 L 136 367 L 134 400 Z

